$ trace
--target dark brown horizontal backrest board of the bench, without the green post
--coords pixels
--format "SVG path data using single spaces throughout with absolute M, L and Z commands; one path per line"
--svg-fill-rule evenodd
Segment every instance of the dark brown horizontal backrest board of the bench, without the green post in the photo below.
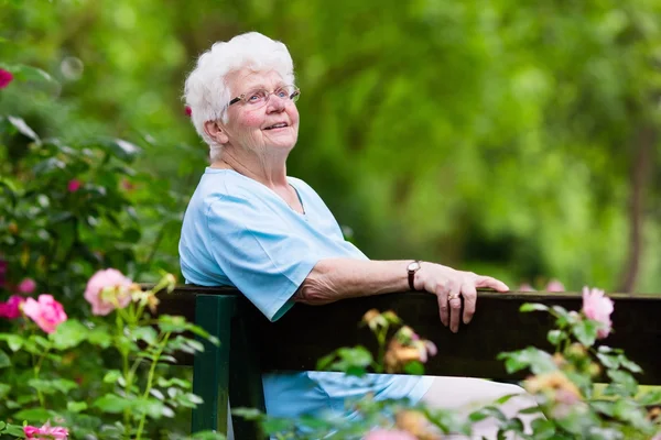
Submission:
M 172 310 L 192 318 L 189 297 L 196 293 L 232 295 L 228 288 L 177 288 L 171 297 L 162 297 L 161 312 Z M 613 315 L 615 332 L 604 341 L 610 346 L 624 348 L 638 362 L 644 374 L 638 376 L 644 384 L 661 384 L 661 298 L 653 296 L 609 295 L 615 300 Z M 546 332 L 552 328 L 544 312 L 521 314 L 523 302 L 561 305 L 579 310 L 578 294 L 498 294 L 480 292 L 477 312 L 468 326 L 457 334 L 443 327 L 433 295 L 405 293 L 367 298 L 345 299 L 326 306 L 296 305 L 277 322 L 269 322 L 251 308 L 248 322 L 256 327 L 260 338 L 261 367 L 272 370 L 315 370 L 316 361 L 339 346 L 364 344 L 373 349 L 373 338 L 358 328 L 365 311 L 377 308 L 394 310 L 419 334 L 438 346 L 438 355 L 426 364 L 432 375 L 520 378 L 510 376 L 503 363 L 496 360 L 499 352 L 535 345 L 551 350 Z

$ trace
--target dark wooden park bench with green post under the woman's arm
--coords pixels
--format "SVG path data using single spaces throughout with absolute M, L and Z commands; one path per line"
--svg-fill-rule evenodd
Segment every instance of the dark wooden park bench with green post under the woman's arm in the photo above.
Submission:
M 614 329 L 606 344 L 626 350 L 644 374 L 641 384 L 661 384 L 661 297 L 609 295 L 615 300 Z M 160 314 L 182 315 L 220 340 L 215 346 L 180 362 L 193 365 L 193 392 L 204 404 L 193 411 L 192 431 L 226 432 L 227 399 L 232 407 L 264 410 L 261 373 L 278 370 L 316 370 L 316 361 L 339 346 L 362 344 L 376 349 L 371 333 L 359 328 L 362 315 L 376 308 L 394 310 L 419 334 L 438 346 L 438 354 L 425 365 L 425 374 L 473 376 L 511 381 L 496 360 L 502 351 L 528 345 L 551 349 L 546 332 L 548 314 L 521 314 L 523 302 L 560 305 L 579 310 L 578 294 L 498 294 L 480 292 L 473 322 L 454 334 L 438 319 L 436 298 L 425 293 L 381 295 L 345 299 L 326 306 L 294 306 L 277 322 L 269 322 L 236 289 L 226 287 L 176 288 L 161 295 Z M 376 353 L 376 351 L 373 351 Z M 263 439 L 256 424 L 234 420 L 235 437 Z

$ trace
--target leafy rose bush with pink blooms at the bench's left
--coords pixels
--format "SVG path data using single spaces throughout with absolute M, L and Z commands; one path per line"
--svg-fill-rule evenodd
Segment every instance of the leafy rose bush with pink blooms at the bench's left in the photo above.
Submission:
M 39 99 L 40 87 L 57 85 L 36 68 L 6 67 L 1 98 L 29 84 L 25 99 Z M 141 147 L 47 136 L 17 113 L 0 114 L 0 143 L 10 158 L 0 163 L 0 300 L 13 294 L 0 302 L 0 316 L 13 320 L 0 321 L 1 432 L 28 435 L 22 422 L 50 432 L 48 421 L 74 438 L 152 437 L 163 425 L 171 436 L 185 432 L 173 418 L 201 399 L 173 356 L 201 350 L 189 332 L 208 336 L 182 317 L 153 315 L 172 275 L 143 292 L 118 271 L 97 272 L 159 272 L 159 235 L 176 215 L 166 188 L 148 188 L 151 177 L 133 168 Z M 150 245 L 145 218 L 158 218 Z M 110 311 L 110 320 L 96 317 Z

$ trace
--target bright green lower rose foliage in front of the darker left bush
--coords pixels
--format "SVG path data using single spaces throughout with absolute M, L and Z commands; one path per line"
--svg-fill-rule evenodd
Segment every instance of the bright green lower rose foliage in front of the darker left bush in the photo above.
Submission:
M 95 288 L 91 282 L 89 288 Z M 148 312 L 155 311 L 158 292 L 173 288 L 172 275 L 149 290 L 107 284 L 98 288 L 96 298 L 87 299 L 94 305 L 102 296 L 115 304 L 110 319 L 78 320 L 64 315 L 55 328 L 46 329 L 46 336 L 26 311 L 31 298 L 25 300 L 19 307 L 25 318 L 15 319 L 10 332 L 0 333 L 0 414 L 9 415 L 6 432 L 15 436 L 21 421 L 52 421 L 66 427 L 74 438 L 139 440 L 148 435 L 151 421 L 173 418 L 175 411 L 201 404 L 188 381 L 171 376 L 169 364 L 176 362 L 178 352 L 203 350 L 199 341 L 184 332 L 218 341 L 183 317 Z M 121 296 L 129 298 L 128 304 Z M 121 366 L 93 377 L 91 389 L 61 373 L 61 364 L 97 351 L 112 351 Z

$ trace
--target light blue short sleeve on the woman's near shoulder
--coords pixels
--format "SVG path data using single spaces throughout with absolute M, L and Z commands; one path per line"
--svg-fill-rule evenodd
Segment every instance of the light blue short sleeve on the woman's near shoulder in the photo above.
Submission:
M 318 262 L 314 246 L 259 200 L 225 196 L 206 211 L 209 251 L 229 280 L 271 321 Z

